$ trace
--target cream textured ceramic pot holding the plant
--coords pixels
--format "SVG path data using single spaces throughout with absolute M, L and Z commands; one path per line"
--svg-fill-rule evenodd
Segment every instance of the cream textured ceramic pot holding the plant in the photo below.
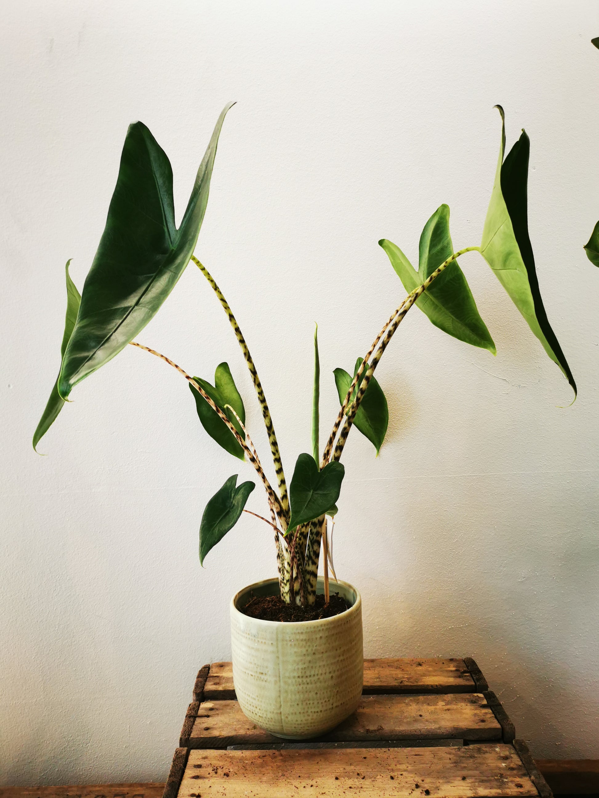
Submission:
M 362 696 L 362 599 L 347 582 L 331 582 L 350 609 L 321 621 L 282 623 L 240 612 L 252 595 L 278 595 L 268 579 L 231 599 L 233 682 L 247 717 L 277 737 L 300 740 L 333 729 Z M 318 593 L 323 581 L 318 580 Z

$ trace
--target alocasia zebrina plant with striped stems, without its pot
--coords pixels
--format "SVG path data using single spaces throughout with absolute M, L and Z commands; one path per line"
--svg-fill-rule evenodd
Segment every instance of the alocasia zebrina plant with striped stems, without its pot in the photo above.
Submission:
M 364 357 L 355 361 L 353 374 L 335 369 L 341 407 L 322 453 L 319 446 L 320 366 L 315 333 L 312 452 L 304 452 L 297 458 L 288 487 L 270 409 L 248 345 L 220 288 L 204 264 L 193 255 L 208 202 L 216 144 L 230 107 L 224 108 L 216 123 L 178 229 L 174 220 L 173 172 L 169 159 L 144 124 L 137 122 L 129 127 L 105 231 L 81 297 L 69 277 L 69 264 L 66 266 L 67 310 L 61 369 L 35 431 L 34 448 L 55 421 L 73 386 L 127 344 L 157 355 L 188 381 L 201 425 L 208 435 L 226 452 L 248 462 L 258 474 L 266 492 L 270 520 L 258 517 L 274 531 L 281 597 L 285 602 L 307 606 L 315 601 L 321 543 L 325 589 L 327 561 L 332 566 L 330 552 L 327 556 L 327 516 L 334 517 L 337 512 L 345 473 L 339 460 L 351 427 L 357 427 L 371 441 L 377 454 L 383 444 L 389 414 L 383 389 L 374 373 L 407 311 L 417 305 L 440 330 L 495 354 L 493 339 L 478 313 L 466 277 L 458 266 L 458 257 L 474 251 L 482 255 L 549 358 L 567 377 L 575 395 L 576 385 L 545 314 L 530 245 L 526 199 L 530 142 L 522 132 L 504 158 L 505 128 L 503 110 L 499 108 L 502 141 L 480 245 L 454 251 L 450 211 L 446 205 L 438 207 L 424 226 L 418 269 L 394 243 L 387 239 L 379 241 L 408 295 L 391 313 Z M 160 309 L 190 262 L 196 264 L 212 286 L 248 365 L 268 433 L 276 488 L 264 473 L 260 456 L 245 428 L 244 401 L 228 364 L 217 366 L 212 384 L 205 377 L 190 376 L 165 355 L 133 341 Z M 235 474 L 208 501 L 200 523 L 202 563 L 208 551 L 240 519 L 254 488 L 251 481 L 237 484 Z

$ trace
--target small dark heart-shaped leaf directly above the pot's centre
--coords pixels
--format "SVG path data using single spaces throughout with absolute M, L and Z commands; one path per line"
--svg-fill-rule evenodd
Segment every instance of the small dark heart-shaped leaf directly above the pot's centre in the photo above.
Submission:
M 333 509 L 339 499 L 345 468 L 341 463 L 327 463 L 322 471 L 314 457 L 300 454 L 289 486 L 292 517 L 288 532 Z M 335 508 L 336 510 L 336 508 Z M 286 534 L 288 534 L 288 532 Z

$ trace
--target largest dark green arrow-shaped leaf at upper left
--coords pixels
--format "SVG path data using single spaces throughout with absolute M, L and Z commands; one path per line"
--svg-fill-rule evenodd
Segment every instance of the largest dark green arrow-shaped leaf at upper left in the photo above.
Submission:
M 183 273 L 204 219 L 216 144 L 231 105 L 216 123 L 178 230 L 169 159 L 145 124 L 129 126 L 106 227 L 62 358 L 63 399 L 135 338 Z

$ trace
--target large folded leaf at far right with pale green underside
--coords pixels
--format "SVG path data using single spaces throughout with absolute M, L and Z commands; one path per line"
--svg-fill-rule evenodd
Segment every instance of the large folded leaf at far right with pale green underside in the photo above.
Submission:
M 482 231 L 482 257 L 493 269 L 526 323 L 541 342 L 549 358 L 560 367 L 576 396 L 576 383 L 555 333 L 549 325 L 534 267 L 533 247 L 528 232 L 528 163 L 530 139 L 526 132 L 503 160 L 506 125 L 501 106 L 502 144 L 493 192 Z

